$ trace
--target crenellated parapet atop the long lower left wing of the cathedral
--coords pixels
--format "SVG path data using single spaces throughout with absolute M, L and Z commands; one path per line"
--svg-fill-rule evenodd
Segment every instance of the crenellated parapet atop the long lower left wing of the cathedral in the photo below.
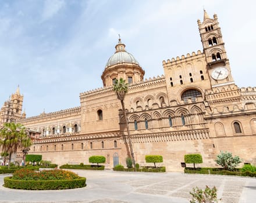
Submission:
M 40 115 L 34 116 L 34 117 L 27 117 L 22 118 L 19 121 L 21 122 L 29 122 L 29 121 L 35 121 L 38 119 L 50 119 L 50 118 L 56 118 L 56 117 L 64 117 L 66 115 L 70 114 L 80 114 L 81 108 L 80 107 L 74 107 L 74 108 L 67 108 L 65 110 L 61 111 L 55 111 L 51 113 L 41 113 Z

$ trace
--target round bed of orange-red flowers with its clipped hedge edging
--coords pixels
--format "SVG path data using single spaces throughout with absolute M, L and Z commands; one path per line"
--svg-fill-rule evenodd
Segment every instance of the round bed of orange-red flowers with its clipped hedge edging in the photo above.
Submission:
M 64 170 L 49 170 L 35 172 L 20 169 L 13 176 L 5 177 L 4 186 L 23 190 L 63 190 L 86 186 L 86 177 Z

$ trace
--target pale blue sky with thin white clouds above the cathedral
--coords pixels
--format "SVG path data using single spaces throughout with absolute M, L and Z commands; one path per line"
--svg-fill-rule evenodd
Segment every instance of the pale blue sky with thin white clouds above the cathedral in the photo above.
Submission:
M 80 106 L 101 88 L 120 34 L 145 70 L 202 50 L 197 19 L 218 14 L 236 85 L 255 86 L 256 2 L 202 0 L 0 0 L 0 105 L 20 86 L 27 117 Z

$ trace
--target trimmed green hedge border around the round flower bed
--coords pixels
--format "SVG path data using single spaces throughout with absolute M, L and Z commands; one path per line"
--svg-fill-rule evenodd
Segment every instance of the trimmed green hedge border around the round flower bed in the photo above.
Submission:
M 4 178 L 4 186 L 10 189 L 22 190 L 64 190 L 86 186 L 86 177 L 73 180 L 13 180 Z

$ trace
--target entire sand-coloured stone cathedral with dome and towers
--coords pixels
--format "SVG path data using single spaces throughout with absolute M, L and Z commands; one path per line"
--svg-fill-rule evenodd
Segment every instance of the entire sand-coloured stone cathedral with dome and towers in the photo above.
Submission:
M 201 154 L 200 166 L 217 166 L 229 151 L 256 164 L 256 88 L 239 88 L 222 40 L 218 16 L 197 20 L 202 51 L 164 60 L 164 75 L 144 79 L 145 71 L 119 38 L 101 75 L 102 88 L 80 93 L 80 106 L 26 117 L 19 87 L 0 112 L 0 124 L 19 122 L 33 138 L 29 154 L 55 164 L 88 163 L 104 155 L 105 168 L 126 166 L 127 131 L 116 79 L 126 79 L 125 97 L 134 157 L 163 156 L 166 171 L 182 171 L 184 154 Z M 26 96 L 26 95 L 25 95 Z M 19 160 L 17 153 L 16 160 Z M 160 164 L 159 164 L 160 165 Z

